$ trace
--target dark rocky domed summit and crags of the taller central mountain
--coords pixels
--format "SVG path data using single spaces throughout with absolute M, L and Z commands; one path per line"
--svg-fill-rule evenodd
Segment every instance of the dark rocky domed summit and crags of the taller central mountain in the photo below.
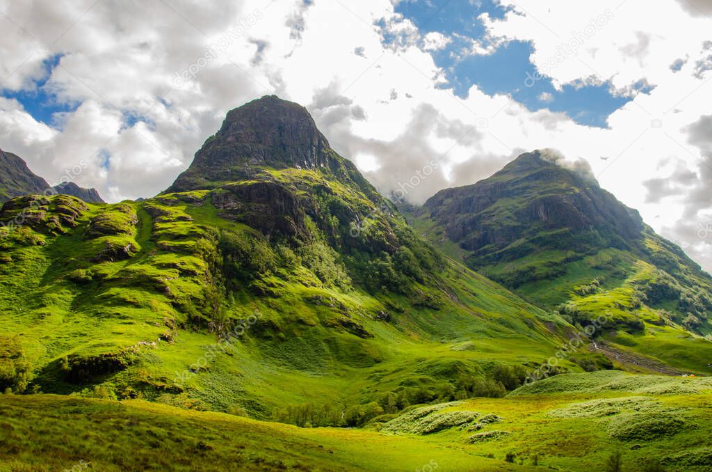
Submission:
M 276 96 L 229 111 L 165 193 L 206 189 L 221 217 L 268 237 L 309 239 L 313 222 L 341 249 L 392 254 L 400 245 L 400 219 L 382 217 L 394 207 L 330 148 L 306 108 Z M 367 220 L 377 230 L 361 232 Z

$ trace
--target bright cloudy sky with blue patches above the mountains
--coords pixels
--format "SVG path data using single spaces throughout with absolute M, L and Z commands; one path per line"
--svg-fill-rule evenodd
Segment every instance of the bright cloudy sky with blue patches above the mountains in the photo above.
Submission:
M 0 148 L 108 201 L 276 94 L 422 204 L 528 150 L 712 270 L 712 0 L 0 0 Z M 81 164 L 81 165 L 80 165 Z

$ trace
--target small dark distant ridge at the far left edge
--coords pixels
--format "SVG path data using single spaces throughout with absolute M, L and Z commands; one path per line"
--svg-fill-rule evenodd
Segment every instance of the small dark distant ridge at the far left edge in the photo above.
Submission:
M 93 188 L 81 188 L 73 182 L 50 187 L 35 175 L 18 155 L 0 149 L 0 203 L 21 195 L 72 195 L 88 203 L 103 203 L 104 200 Z

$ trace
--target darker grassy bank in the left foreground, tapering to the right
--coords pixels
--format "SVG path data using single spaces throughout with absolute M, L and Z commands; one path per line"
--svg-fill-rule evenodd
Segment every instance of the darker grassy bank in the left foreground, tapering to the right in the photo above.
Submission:
M 415 438 L 300 429 L 146 401 L 0 396 L 0 471 L 511 471 Z M 53 438 L 62 438 L 56 441 Z M 426 469 L 427 470 L 427 469 Z

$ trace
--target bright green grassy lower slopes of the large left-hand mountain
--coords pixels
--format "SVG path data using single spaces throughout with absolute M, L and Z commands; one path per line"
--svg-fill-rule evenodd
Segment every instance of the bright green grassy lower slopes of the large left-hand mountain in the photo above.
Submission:
M 2 389 L 101 387 L 262 419 L 312 403 L 399 409 L 464 396 L 499 365 L 533 369 L 568 329 L 446 260 L 422 282 L 391 268 L 407 284 L 370 288 L 379 275 L 314 226 L 294 247 L 219 216 L 224 192 L 9 202 L 2 215 L 27 223 L 0 232 Z

